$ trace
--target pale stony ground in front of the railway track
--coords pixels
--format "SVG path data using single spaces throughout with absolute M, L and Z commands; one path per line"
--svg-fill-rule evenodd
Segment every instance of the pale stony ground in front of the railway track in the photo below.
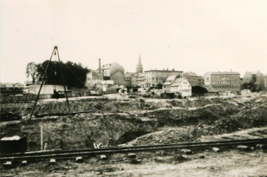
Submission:
M 231 150 L 215 153 L 203 151 L 190 160 L 174 160 L 175 153 L 138 153 L 139 164 L 126 155 L 113 155 L 106 161 L 98 157 L 83 163 L 60 160 L 49 166 L 47 161 L 30 163 L 25 167 L 2 169 L 1 176 L 266 176 L 267 155 L 261 149 L 246 152 Z M 205 158 L 198 158 L 204 155 Z

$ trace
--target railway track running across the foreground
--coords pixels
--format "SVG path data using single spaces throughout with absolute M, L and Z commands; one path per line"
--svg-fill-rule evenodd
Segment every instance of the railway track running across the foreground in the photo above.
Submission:
M 64 158 L 71 156 L 93 156 L 98 154 L 130 153 L 140 151 L 172 151 L 177 149 L 204 149 L 208 147 L 232 147 L 237 145 L 254 146 L 257 144 L 267 145 L 267 138 L 252 140 L 224 140 L 214 142 L 187 142 L 169 145 L 145 145 L 134 147 L 105 147 L 100 149 L 77 149 L 77 150 L 55 150 L 35 151 L 26 153 L 1 154 L 0 160 L 30 160 L 38 158 Z

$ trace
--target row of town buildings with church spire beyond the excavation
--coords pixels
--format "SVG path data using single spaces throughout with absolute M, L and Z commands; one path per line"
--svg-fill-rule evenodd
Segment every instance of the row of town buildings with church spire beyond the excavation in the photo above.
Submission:
M 196 73 L 176 71 L 174 69 L 151 69 L 143 71 L 141 57 L 139 56 L 135 73 L 125 72 L 125 69 L 118 63 L 101 65 L 97 70 L 87 73 L 85 86 L 98 88 L 103 91 L 110 86 L 127 88 L 145 88 L 163 85 L 165 93 L 183 93 L 190 95 L 192 86 L 203 86 L 208 91 L 237 93 L 240 90 L 240 73 L 238 72 L 209 72 L 203 77 Z

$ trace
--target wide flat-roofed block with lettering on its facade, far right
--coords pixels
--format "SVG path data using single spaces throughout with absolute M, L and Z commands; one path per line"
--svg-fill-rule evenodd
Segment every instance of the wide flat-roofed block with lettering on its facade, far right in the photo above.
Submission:
M 204 85 L 208 91 L 237 93 L 240 90 L 240 73 L 210 72 L 204 75 Z

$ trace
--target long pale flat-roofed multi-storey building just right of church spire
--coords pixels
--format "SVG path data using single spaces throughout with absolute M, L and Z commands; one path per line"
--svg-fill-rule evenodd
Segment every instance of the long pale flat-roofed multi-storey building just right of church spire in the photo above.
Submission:
M 168 69 L 145 71 L 145 82 L 149 86 L 155 86 L 158 83 L 163 84 L 169 75 L 183 77 L 183 71 L 174 71 L 174 69 L 172 69 L 172 71 L 169 71 Z

